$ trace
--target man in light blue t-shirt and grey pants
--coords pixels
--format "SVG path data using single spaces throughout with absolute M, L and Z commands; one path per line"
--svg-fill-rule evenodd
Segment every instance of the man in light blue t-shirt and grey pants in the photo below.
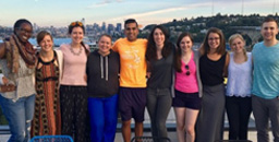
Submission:
M 257 129 L 257 141 L 269 142 L 268 120 L 275 142 L 279 142 L 279 44 L 276 38 L 278 24 L 267 17 L 262 24 L 264 42 L 254 46 L 252 51 L 254 80 L 252 107 Z

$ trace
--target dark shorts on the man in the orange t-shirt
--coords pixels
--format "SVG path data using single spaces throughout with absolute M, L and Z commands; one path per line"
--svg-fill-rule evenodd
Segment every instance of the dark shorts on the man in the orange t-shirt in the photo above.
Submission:
M 134 118 L 136 122 L 144 121 L 146 106 L 145 87 L 120 87 L 119 88 L 119 111 L 122 121 Z

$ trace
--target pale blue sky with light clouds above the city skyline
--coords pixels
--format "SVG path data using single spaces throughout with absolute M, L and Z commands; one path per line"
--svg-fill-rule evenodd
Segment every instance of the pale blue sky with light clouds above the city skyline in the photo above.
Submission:
M 13 26 L 19 19 L 62 27 L 82 19 L 116 24 L 130 17 L 146 26 L 217 13 L 279 13 L 279 0 L 0 0 L 0 26 Z

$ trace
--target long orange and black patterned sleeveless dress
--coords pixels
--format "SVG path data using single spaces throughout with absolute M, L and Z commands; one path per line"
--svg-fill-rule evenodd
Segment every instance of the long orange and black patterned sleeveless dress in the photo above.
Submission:
M 39 67 L 39 68 L 38 68 Z M 59 66 L 57 54 L 49 62 L 38 56 L 36 68 L 36 100 L 32 122 L 32 137 L 61 134 L 59 98 Z

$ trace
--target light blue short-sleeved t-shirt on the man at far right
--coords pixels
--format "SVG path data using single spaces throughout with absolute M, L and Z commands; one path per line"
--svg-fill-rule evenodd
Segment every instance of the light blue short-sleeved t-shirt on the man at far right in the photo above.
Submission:
M 254 80 L 252 94 L 267 99 L 279 95 L 279 44 L 266 47 L 264 42 L 254 46 Z

